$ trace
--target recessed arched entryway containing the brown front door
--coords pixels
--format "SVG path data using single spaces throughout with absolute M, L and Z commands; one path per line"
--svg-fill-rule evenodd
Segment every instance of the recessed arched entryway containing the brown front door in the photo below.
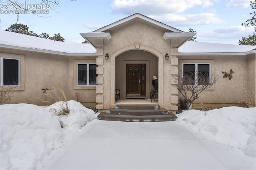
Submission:
M 120 89 L 120 98 L 149 98 L 152 77 L 158 77 L 158 57 L 133 49 L 115 58 L 115 87 Z

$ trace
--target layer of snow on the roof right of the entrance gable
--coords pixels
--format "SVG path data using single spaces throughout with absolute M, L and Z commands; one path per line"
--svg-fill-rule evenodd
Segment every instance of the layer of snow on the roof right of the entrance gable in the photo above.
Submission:
M 256 45 L 235 45 L 223 43 L 186 42 L 178 53 L 243 53 L 256 49 Z

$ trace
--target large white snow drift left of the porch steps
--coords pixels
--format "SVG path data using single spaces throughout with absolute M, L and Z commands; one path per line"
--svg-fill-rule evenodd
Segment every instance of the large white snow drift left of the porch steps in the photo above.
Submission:
M 0 169 L 35 169 L 67 134 L 95 118 L 94 111 L 76 101 L 68 101 L 70 114 L 58 117 L 48 111 L 56 105 L 0 105 Z

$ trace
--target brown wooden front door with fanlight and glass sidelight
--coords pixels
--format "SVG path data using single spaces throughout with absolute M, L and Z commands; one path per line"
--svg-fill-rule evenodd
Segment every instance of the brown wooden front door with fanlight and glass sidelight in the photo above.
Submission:
M 126 96 L 146 96 L 146 64 L 126 64 Z

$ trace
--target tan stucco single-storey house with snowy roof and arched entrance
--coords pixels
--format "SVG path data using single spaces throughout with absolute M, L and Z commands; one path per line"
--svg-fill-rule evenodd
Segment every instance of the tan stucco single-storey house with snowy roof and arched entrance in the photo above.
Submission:
M 116 103 L 116 89 L 120 99 L 148 99 L 156 76 L 158 104 L 175 114 L 180 94 L 174 77 L 191 69 L 221 77 L 193 107 L 239 105 L 246 92 L 255 103 L 255 46 L 189 42 L 195 33 L 138 13 L 80 35 L 90 44 L 1 30 L 0 85 L 18 84 L 12 103 L 44 105 L 42 89 L 56 87 L 69 99 L 104 111 Z M 222 78 L 230 69 L 232 79 Z

